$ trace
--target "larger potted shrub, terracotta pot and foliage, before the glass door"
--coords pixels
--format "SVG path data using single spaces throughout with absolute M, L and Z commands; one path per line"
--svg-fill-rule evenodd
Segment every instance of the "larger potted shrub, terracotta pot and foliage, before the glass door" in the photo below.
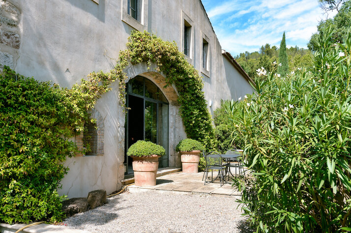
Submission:
M 159 158 L 164 154 L 164 148 L 152 142 L 139 140 L 129 147 L 127 155 L 133 158 L 132 165 L 136 186 L 156 185 Z

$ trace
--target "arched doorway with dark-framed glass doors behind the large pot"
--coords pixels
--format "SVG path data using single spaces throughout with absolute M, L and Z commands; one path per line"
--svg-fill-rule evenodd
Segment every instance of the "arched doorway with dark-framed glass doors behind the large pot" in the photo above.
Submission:
M 129 146 L 138 140 L 151 141 L 163 146 L 166 154 L 159 159 L 159 168 L 168 167 L 168 112 L 169 103 L 159 87 L 151 80 L 136 76 L 127 83 L 125 143 Z M 125 152 L 126 173 L 131 174 L 132 159 Z

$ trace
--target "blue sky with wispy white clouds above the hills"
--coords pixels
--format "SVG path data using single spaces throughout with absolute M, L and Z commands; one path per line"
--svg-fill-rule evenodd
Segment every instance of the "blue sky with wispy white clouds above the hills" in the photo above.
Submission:
M 233 56 L 258 51 L 266 43 L 307 48 L 323 14 L 318 0 L 202 0 L 222 49 Z

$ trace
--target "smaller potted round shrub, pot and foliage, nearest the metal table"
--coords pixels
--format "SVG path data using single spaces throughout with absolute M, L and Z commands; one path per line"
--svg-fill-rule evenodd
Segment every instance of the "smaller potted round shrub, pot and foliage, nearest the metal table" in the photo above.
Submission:
M 176 151 L 181 153 L 183 173 L 197 173 L 201 150 L 205 147 L 196 140 L 184 139 L 176 146 Z

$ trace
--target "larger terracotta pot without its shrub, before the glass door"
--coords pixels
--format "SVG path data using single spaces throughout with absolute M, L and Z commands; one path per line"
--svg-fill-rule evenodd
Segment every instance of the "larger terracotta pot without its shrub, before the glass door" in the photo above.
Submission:
M 152 157 L 131 157 L 133 158 L 135 185 L 139 187 L 155 186 L 160 156 L 153 154 Z

